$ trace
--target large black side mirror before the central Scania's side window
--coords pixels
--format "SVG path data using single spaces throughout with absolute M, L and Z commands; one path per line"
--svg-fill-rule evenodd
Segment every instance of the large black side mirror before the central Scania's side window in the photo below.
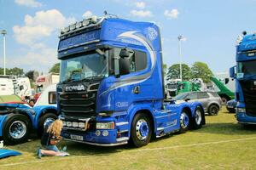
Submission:
M 126 75 L 130 73 L 130 65 L 131 65 L 131 55 L 133 54 L 132 51 L 128 50 L 127 48 L 123 48 L 120 51 L 120 59 L 119 59 L 119 72 L 120 75 Z

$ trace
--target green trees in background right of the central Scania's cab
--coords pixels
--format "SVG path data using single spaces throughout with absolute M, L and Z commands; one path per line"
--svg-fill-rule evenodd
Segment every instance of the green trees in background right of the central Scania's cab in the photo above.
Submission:
M 163 65 L 164 74 L 166 74 L 166 80 L 180 78 L 179 64 L 171 65 L 167 69 L 167 65 Z M 186 64 L 182 64 L 182 76 L 183 81 L 189 81 L 193 78 L 201 78 L 204 82 L 211 82 L 210 77 L 213 76 L 211 69 L 206 63 L 195 62 L 191 67 Z

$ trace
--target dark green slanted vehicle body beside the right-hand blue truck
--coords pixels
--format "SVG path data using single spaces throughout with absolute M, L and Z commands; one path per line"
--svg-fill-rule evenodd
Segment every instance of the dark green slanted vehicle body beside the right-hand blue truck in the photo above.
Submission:
M 235 99 L 235 93 L 227 88 L 223 82 L 220 82 L 218 78 L 211 77 L 211 81 L 218 87 L 218 95 L 222 99 L 222 103 L 225 105 L 230 99 Z M 225 79 L 226 81 L 226 79 Z

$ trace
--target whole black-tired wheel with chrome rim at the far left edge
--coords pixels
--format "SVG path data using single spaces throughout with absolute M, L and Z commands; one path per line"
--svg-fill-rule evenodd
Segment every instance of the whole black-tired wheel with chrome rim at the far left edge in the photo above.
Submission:
M 27 116 L 9 114 L 3 125 L 3 140 L 7 144 L 21 144 L 27 141 L 32 129 L 32 122 Z

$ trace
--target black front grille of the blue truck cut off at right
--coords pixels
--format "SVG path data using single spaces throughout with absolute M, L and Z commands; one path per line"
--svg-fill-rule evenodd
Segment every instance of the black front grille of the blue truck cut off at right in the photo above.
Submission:
M 255 81 L 240 81 L 248 116 L 256 116 L 256 86 L 254 85 Z

